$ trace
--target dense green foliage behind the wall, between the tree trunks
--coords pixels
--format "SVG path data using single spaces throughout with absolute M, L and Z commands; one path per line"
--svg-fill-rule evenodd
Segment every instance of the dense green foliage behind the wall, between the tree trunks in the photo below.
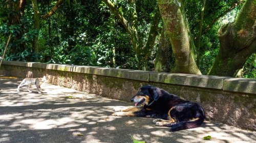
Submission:
M 203 75 L 211 68 L 220 49 L 217 31 L 223 23 L 233 21 L 241 6 L 224 15 L 223 13 L 239 1 L 206 2 L 203 30 L 217 17 L 221 18 L 201 38 L 200 70 Z M 131 21 L 134 8 L 129 1 L 112 2 L 126 20 Z M 138 59 L 131 38 L 120 21 L 101 1 L 65 1 L 49 19 L 40 20 L 40 31 L 34 30 L 31 1 L 26 1 L 24 15 L 16 22 L 12 22 L 11 19 L 21 12 L 17 10 L 17 4 L 18 1 L 0 0 L 0 56 L 3 55 L 8 36 L 12 34 L 6 60 L 37 59 L 40 62 L 138 69 Z M 55 4 L 56 1 L 52 0 L 38 1 L 40 13 L 46 14 Z M 193 38 L 197 37 L 199 31 L 201 5 L 202 1 L 198 0 L 184 1 Z M 156 7 L 156 1 L 136 1 L 138 36 L 143 45 L 146 43 Z M 37 34 L 39 54 L 35 55 L 32 41 Z M 154 68 L 157 43 L 158 40 L 148 58 L 148 69 L 151 70 Z M 255 67 L 253 54 L 244 65 L 243 77 L 256 78 Z

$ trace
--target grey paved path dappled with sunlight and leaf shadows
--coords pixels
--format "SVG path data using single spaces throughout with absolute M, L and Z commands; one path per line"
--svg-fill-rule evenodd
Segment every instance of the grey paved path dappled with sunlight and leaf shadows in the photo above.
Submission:
M 0 142 L 254 142 L 256 132 L 205 122 L 195 129 L 169 132 L 152 118 L 117 117 L 114 106 L 130 103 L 43 84 L 16 91 L 22 79 L 0 77 Z M 67 98 L 68 96 L 72 98 Z M 211 140 L 203 140 L 210 135 Z

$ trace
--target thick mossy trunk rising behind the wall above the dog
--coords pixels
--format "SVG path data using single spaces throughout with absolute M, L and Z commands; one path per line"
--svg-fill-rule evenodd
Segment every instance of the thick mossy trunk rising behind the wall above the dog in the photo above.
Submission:
M 165 32 L 172 44 L 175 56 L 173 73 L 198 74 L 201 71 L 196 64 L 196 48 L 189 30 L 183 1 L 158 0 Z

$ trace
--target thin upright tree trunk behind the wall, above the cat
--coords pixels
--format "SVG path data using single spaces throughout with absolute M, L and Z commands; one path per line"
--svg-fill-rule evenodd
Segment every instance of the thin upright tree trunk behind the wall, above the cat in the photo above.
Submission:
M 40 12 L 38 10 L 37 0 L 32 1 L 32 8 L 34 11 L 34 29 L 38 32 L 33 38 L 33 52 L 37 55 L 39 53 L 38 35 L 40 30 Z

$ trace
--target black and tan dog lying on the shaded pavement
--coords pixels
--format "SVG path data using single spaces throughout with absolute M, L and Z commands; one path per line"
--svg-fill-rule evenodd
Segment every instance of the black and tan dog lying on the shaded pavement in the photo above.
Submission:
M 142 86 L 131 99 L 133 107 L 114 108 L 116 116 L 141 116 L 157 118 L 157 126 L 171 127 L 170 131 L 199 127 L 204 121 L 204 111 L 197 103 L 183 100 L 155 86 Z

